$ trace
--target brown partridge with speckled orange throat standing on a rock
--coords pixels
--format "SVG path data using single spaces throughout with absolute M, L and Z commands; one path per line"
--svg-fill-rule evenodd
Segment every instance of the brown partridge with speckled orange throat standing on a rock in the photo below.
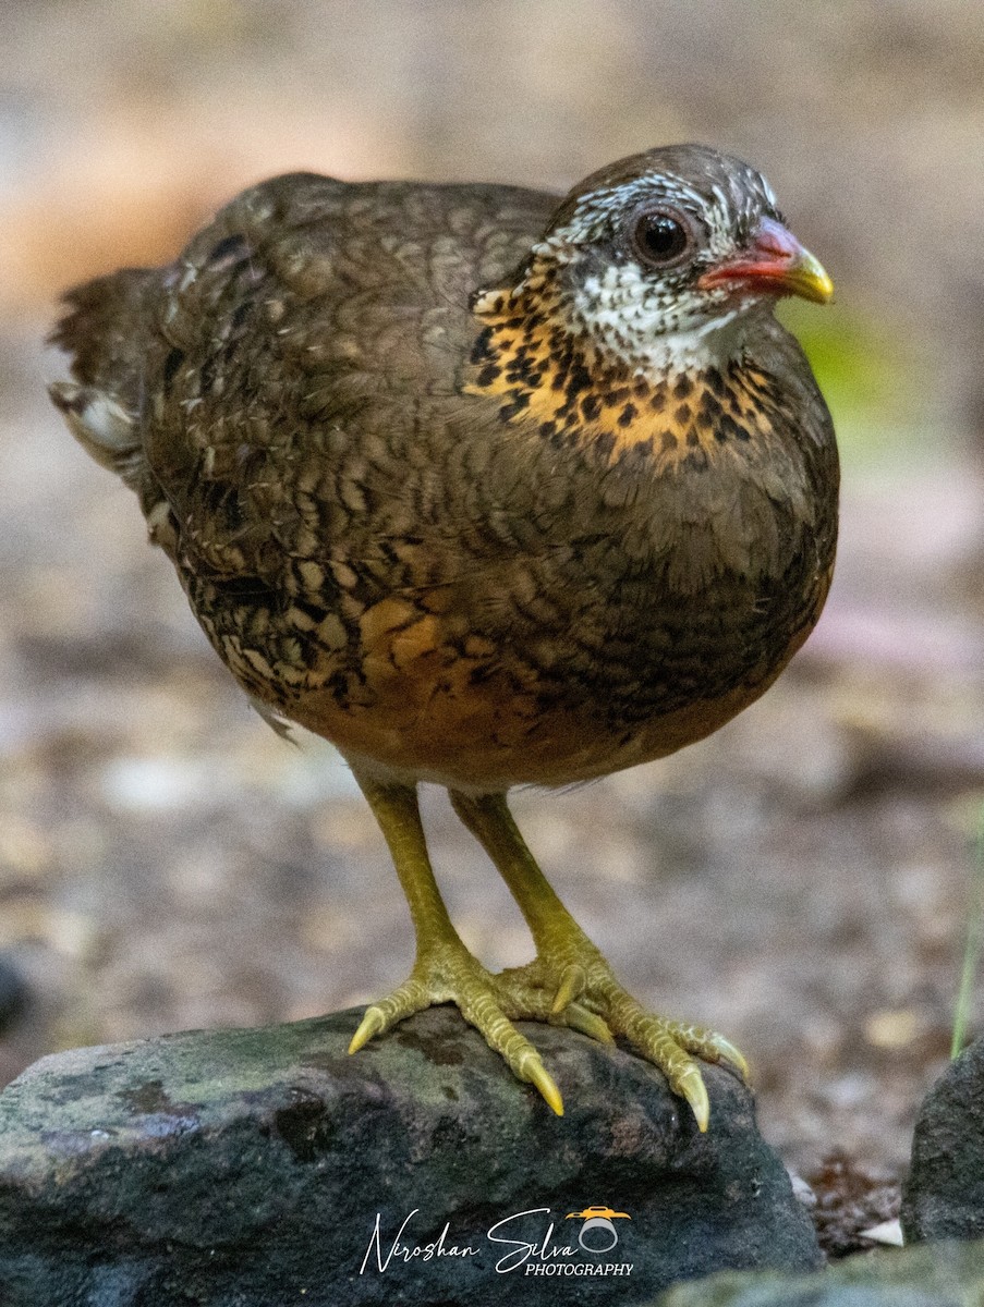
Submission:
M 508 806 L 663 758 L 775 681 L 831 583 L 837 452 L 784 295 L 832 298 L 763 175 L 705 145 L 565 196 L 294 173 L 162 268 L 65 295 L 50 387 L 136 491 L 209 642 L 280 729 L 338 749 L 416 954 L 357 1052 L 454 1004 L 557 1114 L 517 1022 L 658 1067 L 705 1131 L 716 1031 L 644 1008 Z M 534 959 L 468 951 L 417 806 L 444 787 Z M 535 1027 L 534 1027 L 535 1033 Z

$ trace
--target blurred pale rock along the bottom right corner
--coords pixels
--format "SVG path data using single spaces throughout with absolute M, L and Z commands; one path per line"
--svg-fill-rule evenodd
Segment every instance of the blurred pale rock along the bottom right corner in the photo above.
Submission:
M 652 1307 L 979 1307 L 984 1243 L 858 1253 L 813 1276 L 725 1273 L 678 1285 Z

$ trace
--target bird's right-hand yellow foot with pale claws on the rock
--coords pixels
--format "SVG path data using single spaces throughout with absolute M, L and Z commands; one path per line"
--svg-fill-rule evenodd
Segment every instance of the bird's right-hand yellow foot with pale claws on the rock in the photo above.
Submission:
M 663 1072 L 675 1094 L 687 1099 L 701 1132 L 708 1127 L 711 1107 L 700 1063 L 728 1061 L 747 1080 L 748 1064 L 729 1039 L 646 1012 L 580 931 L 561 946 L 542 951 L 527 966 L 502 971 L 495 979 L 499 1005 L 514 1019 L 526 1016 L 542 1021 L 544 1012 L 547 1021 L 572 1026 L 606 1043 L 622 1035 Z

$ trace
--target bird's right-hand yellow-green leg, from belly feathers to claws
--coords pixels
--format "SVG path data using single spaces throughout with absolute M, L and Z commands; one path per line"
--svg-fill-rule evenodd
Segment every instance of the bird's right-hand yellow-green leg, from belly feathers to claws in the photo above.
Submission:
M 712 1030 L 648 1013 L 618 983 L 601 951 L 536 865 L 506 806 L 505 795 L 451 791 L 450 797 L 454 810 L 509 886 L 536 945 L 534 962 L 504 971 L 497 978 L 504 993 L 502 1005 L 514 1016 L 522 1013 L 523 1001 L 536 1009 L 546 989 L 555 1017 L 561 1017 L 572 1006 L 597 1014 L 595 1019 L 603 1023 L 606 1031 L 623 1035 L 661 1068 L 670 1087 L 690 1103 L 700 1129 L 707 1129 L 709 1104 L 696 1059 L 709 1063 L 726 1059 L 746 1076 L 747 1064 L 734 1044 Z M 584 1022 L 580 1027 L 585 1029 Z

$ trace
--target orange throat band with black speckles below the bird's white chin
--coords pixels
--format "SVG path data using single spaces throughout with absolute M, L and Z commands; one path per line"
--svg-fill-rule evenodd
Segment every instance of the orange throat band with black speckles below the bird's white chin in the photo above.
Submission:
M 729 443 L 768 443 L 794 421 L 775 380 L 742 356 L 654 378 L 602 353 L 571 332 L 548 284 L 489 290 L 472 308 L 483 328 L 463 389 L 501 399 L 504 422 L 534 422 L 557 446 L 696 472 Z

